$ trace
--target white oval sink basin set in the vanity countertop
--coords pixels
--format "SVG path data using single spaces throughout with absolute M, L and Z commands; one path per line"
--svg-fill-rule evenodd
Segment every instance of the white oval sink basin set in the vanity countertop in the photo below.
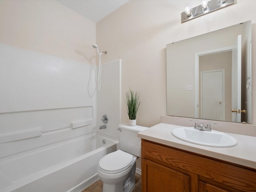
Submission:
M 180 127 L 172 130 L 172 135 L 180 140 L 209 147 L 233 147 L 237 140 L 218 131 L 201 131 L 193 127 Z

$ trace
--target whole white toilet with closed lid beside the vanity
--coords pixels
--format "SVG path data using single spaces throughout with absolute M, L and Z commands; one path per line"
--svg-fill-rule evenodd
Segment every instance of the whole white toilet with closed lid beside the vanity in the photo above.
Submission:
M 103 182 L 103 192 L 130 192 L 135 185 L 136 160 L 141 156 L 140 138 L 137 133 L 147 127 L 119 125 L 121 150 L 100 159 L 98 175 Z

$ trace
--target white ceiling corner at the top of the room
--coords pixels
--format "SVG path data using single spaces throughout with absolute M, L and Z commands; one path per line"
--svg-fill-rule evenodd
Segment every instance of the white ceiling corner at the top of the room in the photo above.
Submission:
M 93 22 L 98 22 L 103 19 L 127 1 L 128 0 L 58 0 L 58 2 L 64 6 Z

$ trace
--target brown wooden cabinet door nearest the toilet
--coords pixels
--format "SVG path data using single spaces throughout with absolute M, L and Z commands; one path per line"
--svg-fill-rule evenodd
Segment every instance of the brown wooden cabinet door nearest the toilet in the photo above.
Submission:
M 189 192 L 190 177 L 148 159 L 142 159 L 143 192 Z

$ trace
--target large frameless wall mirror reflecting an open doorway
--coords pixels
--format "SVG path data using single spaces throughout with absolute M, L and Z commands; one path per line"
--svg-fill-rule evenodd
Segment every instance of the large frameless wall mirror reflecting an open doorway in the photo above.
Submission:
M 251 21 L 166 45 L 167 115 L 252 123 Z

